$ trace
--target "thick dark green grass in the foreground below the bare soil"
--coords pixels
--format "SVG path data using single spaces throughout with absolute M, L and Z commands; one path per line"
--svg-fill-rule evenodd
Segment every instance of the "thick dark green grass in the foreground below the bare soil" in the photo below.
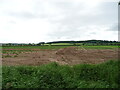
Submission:
M 2 87 L 8 88 L 120 88 L 120 61 L 102 64 L 3 66 Z

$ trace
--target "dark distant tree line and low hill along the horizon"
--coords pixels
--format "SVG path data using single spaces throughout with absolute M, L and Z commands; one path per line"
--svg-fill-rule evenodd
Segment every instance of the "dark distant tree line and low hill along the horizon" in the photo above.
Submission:
M 2 43 L 2 46 L 48 46 L 52 44 L 69 43 L 70 45 L 120 45 L 119 41 L 108 41 L 108 40 L 84 40 L 84 41 L 53 41 L 53 42 L 39 42 L 20 44 L 20 43 Z

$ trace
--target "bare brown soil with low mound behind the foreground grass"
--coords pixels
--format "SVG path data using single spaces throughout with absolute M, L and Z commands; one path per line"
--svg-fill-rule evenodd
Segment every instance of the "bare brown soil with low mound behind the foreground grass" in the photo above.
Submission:
M 2 59 L 3 65 L 41 65 L 50 62 L 59 64 L 97 64 L 107 60 L 117 60 L 118 49 L 84 49 L 68 47 L 59 50 L 33 50 L 20 53 L 17 57 Z

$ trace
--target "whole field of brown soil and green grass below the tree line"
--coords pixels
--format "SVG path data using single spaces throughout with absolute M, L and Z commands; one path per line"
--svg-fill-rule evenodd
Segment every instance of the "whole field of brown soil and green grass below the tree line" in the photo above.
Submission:
M 3 88 L 117 88 L 118 46 L 5 46 Z

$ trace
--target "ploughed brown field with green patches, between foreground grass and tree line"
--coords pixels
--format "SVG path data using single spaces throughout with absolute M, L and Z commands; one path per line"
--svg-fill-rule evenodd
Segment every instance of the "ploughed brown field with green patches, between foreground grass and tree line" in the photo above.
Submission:
M 32 48 L 31 48 L 32 47 Z M 118 60 L 117 47 L 59 47 L 41 46 L 3 47 L 3 65 L 42 65 L 50 62 L 59 64 L 98 64 L 107 60 Z M 47 48 L 46 48 L 47 47 Z

